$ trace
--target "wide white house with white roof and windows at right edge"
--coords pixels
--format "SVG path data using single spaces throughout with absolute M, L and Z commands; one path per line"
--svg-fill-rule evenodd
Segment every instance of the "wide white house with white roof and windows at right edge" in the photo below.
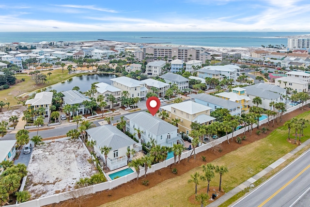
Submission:
M 275 79 L 275 85 L 281 88 L 292 88 L 294 91 L 299 92 L 308 92 L 309 81 L 302 80 L 302 79 L 295 79 L 289 77 L 281 77 Z

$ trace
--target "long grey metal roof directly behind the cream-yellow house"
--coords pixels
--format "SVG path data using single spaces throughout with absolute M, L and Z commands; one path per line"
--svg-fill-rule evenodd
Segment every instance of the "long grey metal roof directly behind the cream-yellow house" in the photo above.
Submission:
M 192 94 L 189 95 L 195 99 L 199 99 L 202 101 L 205 101 L 207 103 L 211 103 L 214 104 L 216 106 L 220 106 L 222 108 L 225 109 L 233 109 L 235 107 L 241 107 L 241 104 L 230 101 L 230 100 L 226 100 L 224 98 L 220 98 L 217 96 L 212 96 L 212 95 L 208 95 L 208 94 Z

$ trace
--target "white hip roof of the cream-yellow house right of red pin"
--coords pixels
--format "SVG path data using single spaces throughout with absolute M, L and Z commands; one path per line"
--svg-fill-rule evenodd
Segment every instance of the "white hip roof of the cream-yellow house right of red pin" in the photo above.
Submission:
M 174 108 L 174 109 L 177 109 L 180 111 L 184 111 L 188 114 L 196 114 L 196 113 L 200 113 L 202 111 L 208 111 L 208 110 L 212 109 L 208 106 L 196 103 L 194 101 L 184 101 L 181 103 L 165 105 L 165 106 L 162 106 L 160 108 L 165 110 L 165 111 L 170 111 L 170 112 L 171 112 L 171 108 Z

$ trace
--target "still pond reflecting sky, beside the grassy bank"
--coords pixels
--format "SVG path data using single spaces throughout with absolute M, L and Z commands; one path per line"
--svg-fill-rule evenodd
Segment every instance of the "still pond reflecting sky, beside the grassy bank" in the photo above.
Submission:
M 72 77 L 69 80 L 51 85 L 47 87 L 47 91 L 56 90 L 57 92 L 72 90 L 73 87 L 78 86 L 79 91 L 85 92 L 91 89 L 94 82 L 105 82 L 111 84 L 110 79 L 116 78 L 115 75 L 93 74 L 80 75 Z

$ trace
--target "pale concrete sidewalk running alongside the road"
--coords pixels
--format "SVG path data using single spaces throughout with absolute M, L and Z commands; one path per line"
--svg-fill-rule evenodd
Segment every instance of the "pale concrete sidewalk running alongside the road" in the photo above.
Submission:
M 259 172 L 258 174 L 248 178 L 248 180 L 244 181 L 243 183 L 241 183 L 240 185 L 238 185 L 237 187 L 235 187 L 233 190 L 225 193 L 223 196 L 219 197 L 217 200 L 215 200 L 213 203 L 209 204 L 207 207 L 218 207 L 219 205 L 221 205 L 222 203 L 224 203 L 225 201 L 227 201 L 228 199 L 230 199 L 231 197 L 233 197 L 235 194 L 237 194 L 238 192 L 244 190 L 245 188 L 248 188 L 250 185 L 252 185 L 256 180 L 260 179 L 261 177 L 263 177 L 264 175 L 266 175 L 267 173 L 269 173 L 270 171 L 272 171 L 273 169 L 275 169 L 276 167 L 278 167 L 280 164 L 282 164 L 285 160 L 291 158 L 295 153 L 297 153 L 299 150 L 301 150 L 302 148 L 304 148 L 305 146 L 307 146 L 308 144 L 310 144 L 310 139 L 307 140 L 306 142 L 300 144 L 299 146 L 297 146 L 295 149 L 293 149 L 291 152 L 287 153 L 286 155 L 284 155 L 282 158 L 278 159 L 277 161 L 275 161 L 274 163 L 272 163 L 271 165 L 269 165 L 268 167 L 266 167 L 265 169 L 263 169 L 261 172 Z

